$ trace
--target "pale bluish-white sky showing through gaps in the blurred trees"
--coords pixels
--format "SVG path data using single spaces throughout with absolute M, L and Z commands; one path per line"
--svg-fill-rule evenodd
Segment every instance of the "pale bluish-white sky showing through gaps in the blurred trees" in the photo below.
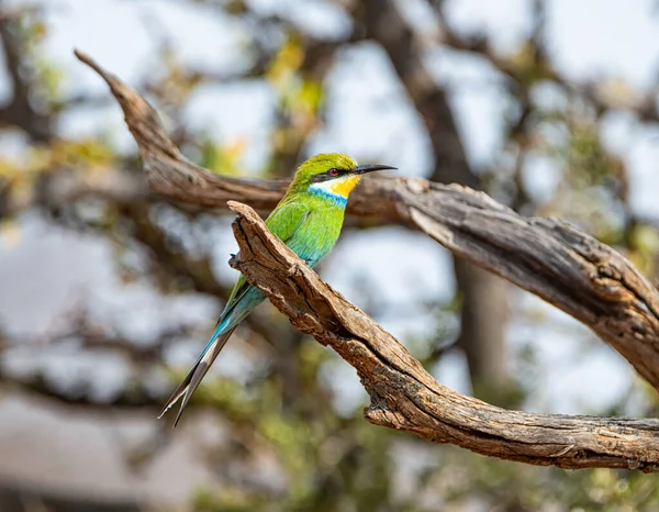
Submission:
M 322 1 L 258 0 L 250 3 L 264 10 L 293 13 L 293 19 L 310 30 L 326 31 L 327 36 L 340 34 L 346 29 L 342 15 Z M 530 30 L 528 3 L 524 0 L 451 0 L 447 2 L 447 9 L 449 20 L 460 31 L 484 30 L 492 35 L 499 51 L 512 52 Z M 246 37 L 245 32 L 227 20 L 208 15 L 201 7 L 190 9 L 174 0 L 58 0 L 54 5 L 48 14 L 52 30 L 46 51 L 66 69 L 66 90 L 71 94 L 109 94 L 99 77 L 74 57 L 75 47 L 90 54 L 133 86 L 143 82 L 145 71 L 158 73 L 152 54 L 163 34 L 175 44 L 181 59 L 194 66 L 217 73 L 231 73 L 241 66 L 241 56 L 234 48 L 236 42 Z M 423 3 L 410 0 L 404 5 L 411 22 L 431 34 L 428 19 L 432 13 Z M 659 62 L 659 19 L 651 0 L 551 0 L 547 5 L 551 56 L 568 78 L 622 78 L 633 91 L 650 90 L 658 71 L 654 66 Z M 495 164 L 502 149 L 499 127 L 505 115 L 505 97 L 496 87 L 479 86 L 491 81 L 492 71 L 478 58 L 458 57 L 440 48 L 428 49 L 426 59 L 433 76 L 454 86 L 451 105 L 470 162 L 477 168 Z M 361 78 L 369 76 L 378 79 Z M 343 54 L 328 79 L 332 102 L 336 107 L 330 113 L 327 129 L 311 142 L 311 153 L 338 151 L 364 159 L 377 157 L 398 166 L 398 172 L 405 176 L 429 172 L 433 163 L 428 141 L 381 51 L 365 44 Z M 7 93 L 7 77 L 0 76 L 0 98 Z M 223 142 L 246 142 L 245 168 L 248 172 L 255 171 L 268 156 L 272 99 L 271 91 L 258 84 L 209 86 L 196 93 L 186 119 Z M 91 112 L 77 111 L 67 115 L 60 127 L 70 136 L 93 136 L 110 130 L 119 147 L 134 148 L 121 112 L 113 102 Z M 644 215 L 659 218 L 656 200 L 659 155 L 654 140 L 659 133 L 656 129 L 641 129 L 633 118 L 622 114 L 612 116 L 603 130 L 612 151 L 629 164 L 634 208 Z M 21 157 L 16 147 L 20 148 L 20 144 L 15 136 L 0 138 L 0 153 L 7 151 Z M 560 179 L 556 169 L 545 164 L 532 162 L 526 170 L 527 181 L 538 197 L 547 196 Z M 8 285 L 0 289 L 0 318 L 10 329 L 38 334 L 57 322 L 81 294 L 93 296 L 101 304 L 99 308 L 109 310 L 109 314 L 124 311 L 126 303 L 135 304 L 133 309 L 137 313 L 129 314 L 127 329 L 144 336 L 154 323 L 167 316 L 161 314 L 163 309 L 199 324 L 202 331 L 214 323 L 219 304 L 212 300 L 192 297 L 159 300 L 138 286 L 123 287 L 110 271 L 110 247 L 94 238 L 67 234 L 30 216 L 23 219 L 21 225 L 20 244 L 11 245 L 0 240 L 0 282 Z M 214 266 L 220 276 L 231 279 L 233 270 L 225 263 L 235 243 L 226 223 L 219 221 L 219 226 Z M 44 254 L 48 257 L 44 258 Z M 29 279 L 24 277 L 26 268 L 30 269 Z M 398 227 L 350 233 L 342 238 L 324 266 L 323 277 L 359 304 L 366 297 L 354 286 L 355 276 L 371 282 L 378 293 L 392 303 L 404 303 L 417 294 L 428 300 L 448 299 L 455 288 L 447 252 L 417 233 Z M 591 412 L 606 407 L 627 391 L 636 379 L 635 374 L 608 346 L 593 343 L 593 336 L 585 329 L 538 299 L 518 293 L 515 300 L 533 311 L 535 320 L 518 318 L 511 324 L 512 349 L 532 346 L 538 354 L 541 369 L 516 368 L 533 391 L 527 410 Z M 402 338 L 427 335 L 434 330 L 432 318 L 423 312 L 378 320 Z M 191 363 L 205 342 L 202 338 L 177 349 L 172 360 L 181 365 Z M 249 360 L 241 359 L 237 352 L 219 360 L 216 370 L 227 374 L 232 368 L 236 371 L 244 368 L 241 365 L 249 365 Z M 32 354 L 15 355 L 12 365 L 27 371 L 34 364 Z M 69 376 L 74 379 L 71 383 L 76 378 L 85 378 L 89 371 L 94 375 L 101 371 L 107 387 L 99 388 L 99 393 L 109 392 L 112 382 L 120 382 L 122 378 L 113 361 L 90 369 L 90 361 L 71 360 L 67 355 L 55 357 L 45 350 L 42 358 L 49 361 L 57 376 L 67 375 L 71 365 L 76 365 L 78 370 Z M 234 365 L 236 360 L 238 366 Z M 440 382 L 468 392 L 465 368 L 462 358 L 451 355 L 432 371 Z M 333 380 L 333 386 L 340 391 L 339 409 L 348 411 L 365 401 L 365 392 L 347 365 L 337 361 L 328 372 L 333 377 L 328 380 Z M 15 413 L 21 405 L 0 402 L 0 415 L 10 410 Z M 24 418 L 25 422 L 33 421 Z M 10 431 L 0 425 L 0 445 L 19 427 L 18 422 Z

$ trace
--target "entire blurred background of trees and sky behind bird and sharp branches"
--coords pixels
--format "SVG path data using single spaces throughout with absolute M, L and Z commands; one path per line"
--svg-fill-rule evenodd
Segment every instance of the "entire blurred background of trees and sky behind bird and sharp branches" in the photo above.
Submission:
M 654 279 L 656 0 L 0 0 L 0 511 L 659 510 L 656 476 L 366 423 L 355 371 L 268 303 L 179 428 L 155 421 L 236 278 L 231 215 L 143 193 L 119 107 L 72 55 L 214 171 L 345 152 L 560 216 Z M 659 413 L 590 331 L 420 233 L 349 219 L 320 272 L 460 392 Z

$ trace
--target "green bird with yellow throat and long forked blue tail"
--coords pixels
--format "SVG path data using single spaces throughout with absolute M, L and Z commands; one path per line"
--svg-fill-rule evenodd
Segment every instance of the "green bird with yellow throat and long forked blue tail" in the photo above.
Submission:
M 286 194 L 266 219 L 266 226 L 313 268 L 336 244 L 353 189 L 365 174 L 384 169 L 396 167 L 358 165 L 340 153 L 315 155 L 298 167 Z M 182 399 L 172 424 L 176 427 L 192 393 L 236 326 L 265 299 L 261 290 L 249 285 L 243 275 L 238 277 L 215 331 L 158 419 Z

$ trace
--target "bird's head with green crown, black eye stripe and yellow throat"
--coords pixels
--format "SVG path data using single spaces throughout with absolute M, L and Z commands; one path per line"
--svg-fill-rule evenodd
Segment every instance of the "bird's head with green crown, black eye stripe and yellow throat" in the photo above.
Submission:
M 322 153 L 302 164 L 291 187 L 297 191 L 308 191 L 339 202 L 347 200 L 355 186 L 367 172 L 395 169 L 388 165 L 357 165 L 355 159 L 340 153 Z

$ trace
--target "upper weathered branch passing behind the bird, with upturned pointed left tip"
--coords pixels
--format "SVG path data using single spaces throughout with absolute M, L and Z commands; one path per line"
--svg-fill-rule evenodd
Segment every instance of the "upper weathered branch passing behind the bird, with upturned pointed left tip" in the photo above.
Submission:
M 206 208 L 273 208 L 286 181 L 236 179 L 188 162 L 133 89 L 76 52 L 123 109 L 147 181 L 160 196 Z M 659 389 L 659 293 L 619 253 L 554 219 L 526 219 L 484 193 L 413 178 L 365 179 L 348 212 L 405 223 L 591 327 Z

